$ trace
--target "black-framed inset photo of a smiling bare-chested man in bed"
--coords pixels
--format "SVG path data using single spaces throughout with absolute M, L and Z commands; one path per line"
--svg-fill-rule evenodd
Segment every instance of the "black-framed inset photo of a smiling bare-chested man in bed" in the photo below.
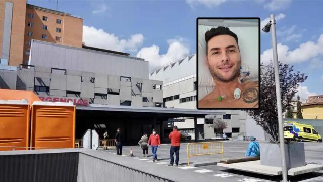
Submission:
M 259 109 L 260 18 L 197 18 L 197 109 Z

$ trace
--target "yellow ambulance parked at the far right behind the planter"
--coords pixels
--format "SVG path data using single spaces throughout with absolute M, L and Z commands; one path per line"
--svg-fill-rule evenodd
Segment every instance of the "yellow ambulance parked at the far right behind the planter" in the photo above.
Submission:
M 295 121 L 284 122 L 284 138 L 290 140 L 322 142 L 322 136 L 310 124 Z

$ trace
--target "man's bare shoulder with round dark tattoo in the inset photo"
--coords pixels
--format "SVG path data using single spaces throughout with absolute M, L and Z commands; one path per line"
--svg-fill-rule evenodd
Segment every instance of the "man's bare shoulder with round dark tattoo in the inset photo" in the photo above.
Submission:
M 258 108 L 259 105 L 259 82 L 258 81 L 250 81 L 243 85 L 242 91 L 242 100 L 243 102 L 251 106 L 252 108 Z

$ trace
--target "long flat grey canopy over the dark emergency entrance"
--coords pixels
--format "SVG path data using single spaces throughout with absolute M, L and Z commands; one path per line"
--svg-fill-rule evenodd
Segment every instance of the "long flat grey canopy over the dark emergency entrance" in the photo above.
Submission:
M 205 115 L 224 115 L 219 110 L 197 110 L 159 107 L 133 107 L 117 105 L 90 104 L 89 106 L 76 106 L 76 110 L 84 111 L 109 111 L 105 114 L 114 116 L 157 117 L 158 119 L 192 117 L 203 118 Z

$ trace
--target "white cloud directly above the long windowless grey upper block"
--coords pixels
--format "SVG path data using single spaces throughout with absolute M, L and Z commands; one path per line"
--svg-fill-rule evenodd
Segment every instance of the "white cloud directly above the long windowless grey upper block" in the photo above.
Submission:
M 112 33 L 107 33 L 103 29 L 95 27 L 83 26 L 83 42 L 85 45 L 108 49 L 113 51 L 138 51 L 143 43 L 142 34 L 131 35 L 129 39 L 119 39 Z

